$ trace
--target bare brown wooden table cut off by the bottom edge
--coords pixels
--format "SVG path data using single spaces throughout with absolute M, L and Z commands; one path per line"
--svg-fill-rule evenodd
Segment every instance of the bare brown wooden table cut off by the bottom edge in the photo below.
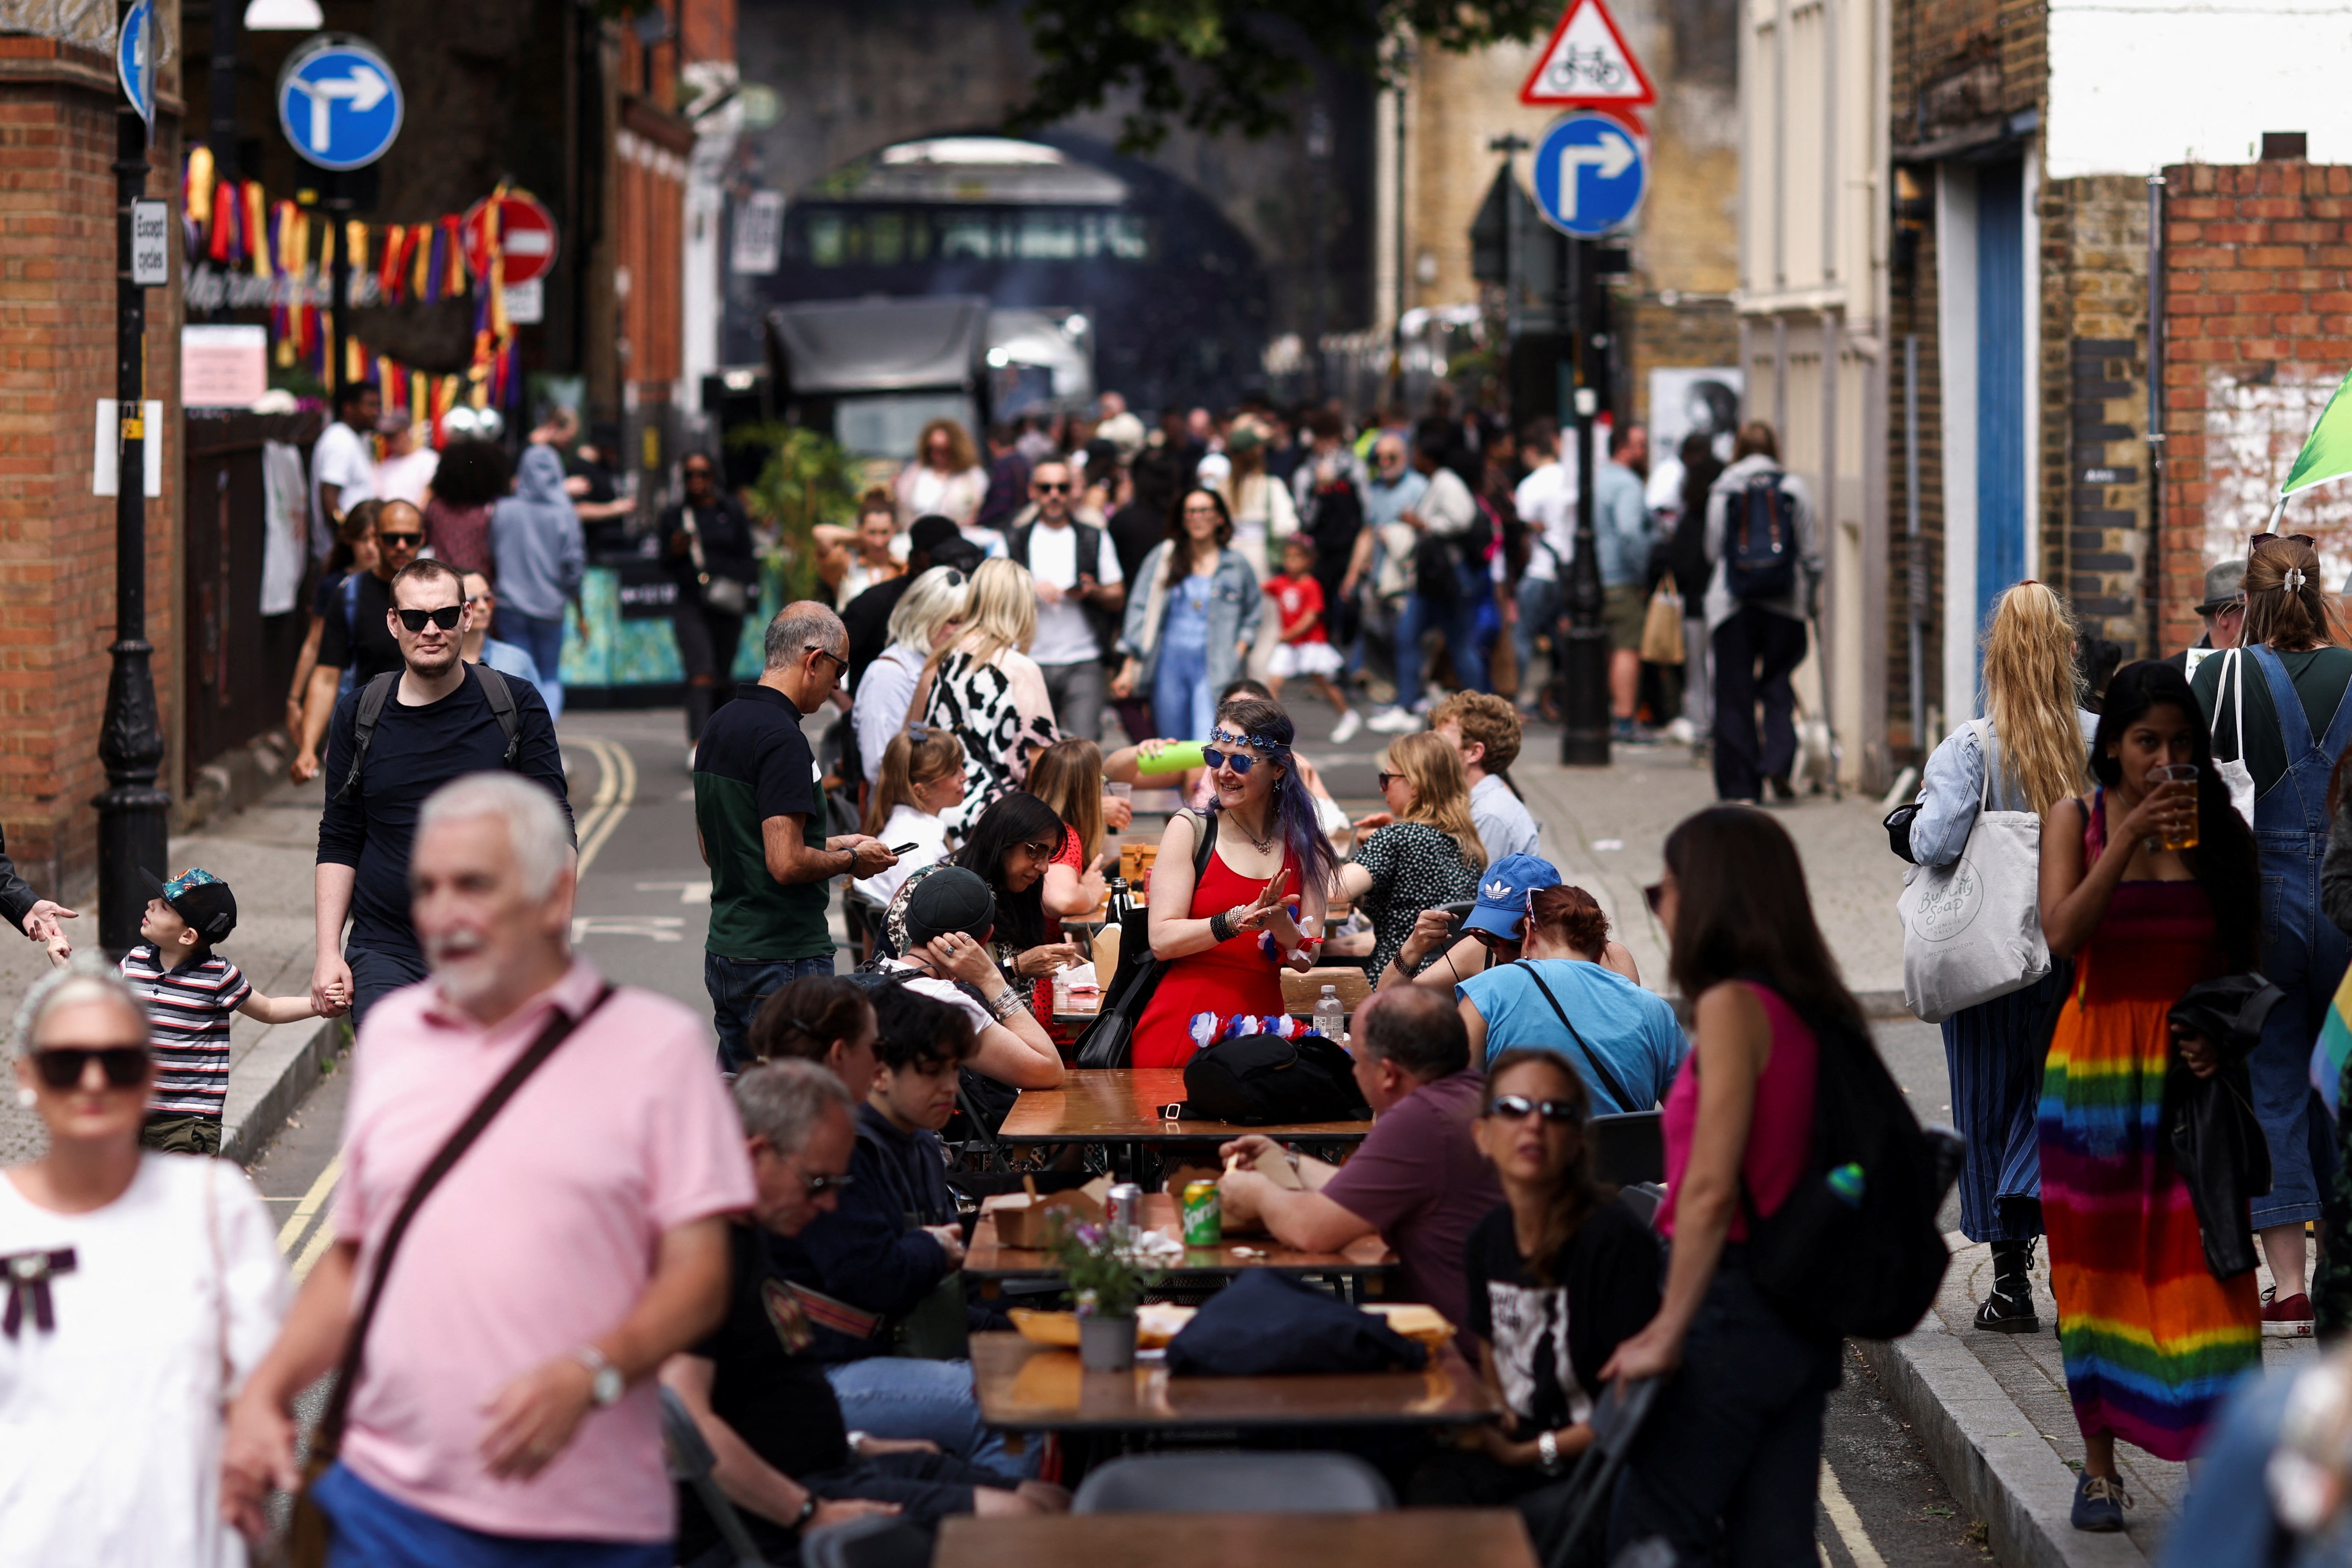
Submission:
M 1381 1514 L 1037 1514 L 941 1523 L 955 1568 L 1536 1568 L 1517 1509 Z

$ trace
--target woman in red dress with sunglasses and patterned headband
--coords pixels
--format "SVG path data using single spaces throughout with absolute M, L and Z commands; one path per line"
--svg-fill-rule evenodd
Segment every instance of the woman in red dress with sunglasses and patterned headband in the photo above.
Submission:
M 1315 964 L 1338 856 L 1315 823 L 1291 733 L 1275 703 L 1225 703 L 1202 752 L 1216 797 L 1204 816 L 1183 811 L 1160 835 L 1150 933 L 1167 971 L 1136 1020 L 1136 1067 L 1183 1067 L 1197 1048 L 1195 1013 L 1282 1013 L 1282 964 Z M 1195 884 L 1192 851 L 1209 827 L 1216 846 Z M 1265 933 L 1279 957 L 1265 954 Z

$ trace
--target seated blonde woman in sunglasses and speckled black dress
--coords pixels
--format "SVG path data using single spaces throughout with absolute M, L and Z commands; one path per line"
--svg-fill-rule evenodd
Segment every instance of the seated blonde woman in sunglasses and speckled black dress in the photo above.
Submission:
M 1451 741 L 1428 729 L 1397 736 L 1376 766 L 1388 811 L 1357 820 L 1355 858 L 1338 870 L 1338 891 L 1371 919 L 1367 973 L 1381 980 L 1423 910 L 1477 898 L 1486 849 L 1470 820 L 1470 776 Z

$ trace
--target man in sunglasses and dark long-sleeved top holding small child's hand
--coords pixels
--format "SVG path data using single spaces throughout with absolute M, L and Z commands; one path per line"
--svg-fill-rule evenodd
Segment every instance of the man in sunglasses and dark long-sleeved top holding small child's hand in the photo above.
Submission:
M 564 757 L 539 691 L 492 670 L 487 679 L 499 682 L 506 696 L 508 712 L 501 717 L 485 665 L 468 665 L 461 656 L 473 611 L 459 574 L 433 559 L 402 567 L 383 623 L 400 646 L 402 675 L 390 684 L 365 750 L 360 710 L 369 686 L 353 686 L 336 701 L 327 731 L 327 811 L 318 823 L 310 999 L 322 1013 L 348 1001 L 355 1023 L 386 992 L 426 978 L 426 957 L 409 924 L 409 846 L 416 811 L 433 790 L 461 773 L 513 769 L 541 783 L 572 820 Z

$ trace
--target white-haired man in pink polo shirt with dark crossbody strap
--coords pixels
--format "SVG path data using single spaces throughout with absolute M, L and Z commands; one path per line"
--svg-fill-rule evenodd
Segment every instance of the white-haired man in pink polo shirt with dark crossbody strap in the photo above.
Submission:
M 445 785 L 409 875 L 433 976 L 360 1032 L 339 1239 L 230 1408 L 223 1507 L 266 1530 L 270 1483 L 296 1481 L 294 1396 L 341 1361 L 393 1213 L 562 1011 L 579 1027 L 416 1211 L 313 1497 L 334 1568 L 663 1568 L 654 1373 L 727 1307 L 727 1215 L 755 1197 L 734 1107 L 701 1018 L 642 990 L 600 1001 L 572 957 L 572 849 L 546 790 Z

